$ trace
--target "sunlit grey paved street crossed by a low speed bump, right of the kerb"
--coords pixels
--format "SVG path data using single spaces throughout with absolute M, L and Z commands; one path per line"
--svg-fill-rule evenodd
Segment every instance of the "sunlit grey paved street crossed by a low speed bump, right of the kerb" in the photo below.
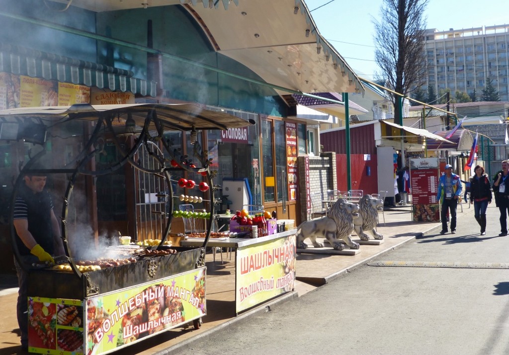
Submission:
M 461 268 L 364 264 L 173 353 L 507 354 L 509 269 L 466 267 L 509 263 L 498 208 L 490 205 L 487 215 L 485 236 L 467 208 L 458 214 L 457 234 L 437 229 L 369 262 L 459 262 Z

